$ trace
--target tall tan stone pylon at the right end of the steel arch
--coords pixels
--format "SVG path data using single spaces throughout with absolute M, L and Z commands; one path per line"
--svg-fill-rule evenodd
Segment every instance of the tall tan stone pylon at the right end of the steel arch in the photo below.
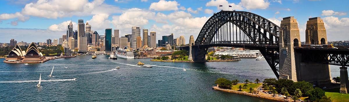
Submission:
M 281 21 L 279 42 L 279 79 L 297 81 L 294 46 L 300 46 L 300 37 L 297 20 L 293 16 Z

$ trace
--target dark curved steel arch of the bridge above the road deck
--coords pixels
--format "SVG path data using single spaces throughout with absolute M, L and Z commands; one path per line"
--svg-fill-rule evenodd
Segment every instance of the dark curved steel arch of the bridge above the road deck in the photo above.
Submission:
M 254 44 L 279 44 L 279 26 L 264 17 L 243 11 L 221 11 L 211 16 L 202 27 L 195 44 L 211 43 L 219 28 L 227 22 L 239 27 Z

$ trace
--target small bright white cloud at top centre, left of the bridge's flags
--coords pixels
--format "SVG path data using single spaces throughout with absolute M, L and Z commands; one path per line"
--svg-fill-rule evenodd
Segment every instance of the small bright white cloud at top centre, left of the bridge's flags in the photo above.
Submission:
M 165 11 L 165 10 L 178 10 L 179 4 L 177 1 L 165 1 L 153 2 L 150 4 L 150 10 Z

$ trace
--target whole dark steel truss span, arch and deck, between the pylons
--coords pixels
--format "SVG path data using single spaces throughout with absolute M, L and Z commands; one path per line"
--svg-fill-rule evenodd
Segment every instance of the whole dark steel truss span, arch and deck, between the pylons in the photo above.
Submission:
M 236 38 L 234 38 L 234 34 L 231 35 L 231 32 L 228 32 L 228 25 L 226 25 L 227 27 L 223 28 L 227 29 L 225 30 L 227 32 L 223 32 L 224 38 L 222 39 L 222 36 L 220 36 L 221 38 L 216 38 L 217 36 L 215 37 L 215 35 L 220 32 L 220 28 L 222 29 L 227 23 L 229 23 L 229 31 L 231 31 L 230 23 L 232 23 L 239 28 L 239 31 L 243 32 L 243 36 L 240 35 L 238 38 L 236 34 Z M 209 46 L 243 46 L 244 48 L 258 49 L 265 57 L 276 77 L 279 78 L 279 73 L 277 73 L 277 66 L 279 65 L 279 31 L 279 26 L 254 13 L 222 10 L 207 20 L 198 38 L 196 38 L 195 45 L 205 49 Z M 244 36 L 246 36 L 248 41 L 241 40 L 241 37 Z M 202 58 L 202 54 L 196 56 L 201 56 Z

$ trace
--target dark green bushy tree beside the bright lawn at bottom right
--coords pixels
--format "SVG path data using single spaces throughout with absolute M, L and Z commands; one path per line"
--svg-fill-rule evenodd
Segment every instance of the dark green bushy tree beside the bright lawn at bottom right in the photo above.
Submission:
M 325 96 L 325 91 L 318 88 L 318 87 L 315 87 L 315 88 L 307 91 L 305 94 L 307 96 L 309 96 L 309 99 L 311 101 L 315 101 L 315 100 L 321 99 L 321 97 Z

